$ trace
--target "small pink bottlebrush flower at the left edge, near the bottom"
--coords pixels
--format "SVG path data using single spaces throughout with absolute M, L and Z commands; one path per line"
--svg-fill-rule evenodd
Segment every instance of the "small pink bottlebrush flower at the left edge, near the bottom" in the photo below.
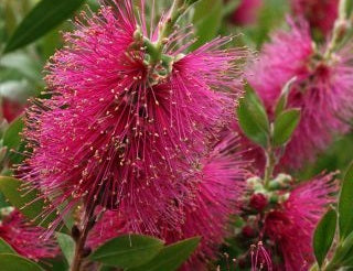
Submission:
M 44 231 L 45 229 L 25 221 L 24 217 L 12 207 L 0 209 L 0 238 L 21 256 L 39 260 L 58 254 L 56 242 L 42 238 Z

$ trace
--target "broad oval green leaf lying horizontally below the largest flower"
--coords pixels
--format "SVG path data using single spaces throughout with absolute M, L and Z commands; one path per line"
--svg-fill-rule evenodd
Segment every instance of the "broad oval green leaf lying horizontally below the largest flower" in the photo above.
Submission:
M 89 257 L 107 265 L 133 268 L 151 260 L 163 248 L 163 241 L 140 235 L 125 235 L 111 239 Z

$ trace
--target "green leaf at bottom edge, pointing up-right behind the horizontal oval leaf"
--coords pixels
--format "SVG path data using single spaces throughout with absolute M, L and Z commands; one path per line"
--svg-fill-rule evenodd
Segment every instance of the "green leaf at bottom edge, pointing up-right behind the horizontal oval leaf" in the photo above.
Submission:
M 180 242 L 172 243 L 161 250 L 161 252 L 154 257 L 148 263 L 129 269 L 129 271 L 174 271 L 188 260 L 191 253 L 196 249 L 200 242 L 200 237 L 182 240 Z

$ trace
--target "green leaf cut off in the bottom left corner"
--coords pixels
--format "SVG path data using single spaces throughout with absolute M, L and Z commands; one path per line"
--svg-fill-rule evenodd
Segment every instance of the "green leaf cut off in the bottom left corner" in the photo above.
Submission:
M 35 262 L 17 254 L 0 254 L 1 271 L 44 271 Z

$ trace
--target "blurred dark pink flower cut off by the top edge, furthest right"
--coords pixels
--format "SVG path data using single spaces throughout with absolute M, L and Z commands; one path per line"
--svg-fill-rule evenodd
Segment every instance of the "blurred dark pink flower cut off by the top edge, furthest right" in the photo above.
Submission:
M 328 35 L 338 18 L 340 0 L 291 0 L 293 13 Z

